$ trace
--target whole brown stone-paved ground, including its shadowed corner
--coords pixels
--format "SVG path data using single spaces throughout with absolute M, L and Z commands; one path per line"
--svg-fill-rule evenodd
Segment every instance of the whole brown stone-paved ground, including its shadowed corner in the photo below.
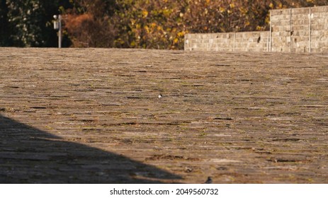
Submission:
M 327 183 L 327 62 L 0 48 L 0 182 Z

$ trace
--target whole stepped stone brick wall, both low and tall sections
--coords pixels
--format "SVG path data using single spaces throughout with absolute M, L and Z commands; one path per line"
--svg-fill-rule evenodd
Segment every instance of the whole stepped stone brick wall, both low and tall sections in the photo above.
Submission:
M 187 34 L 185 50 L 328 52 L 328 6 L 271 10 L 270 31 Z

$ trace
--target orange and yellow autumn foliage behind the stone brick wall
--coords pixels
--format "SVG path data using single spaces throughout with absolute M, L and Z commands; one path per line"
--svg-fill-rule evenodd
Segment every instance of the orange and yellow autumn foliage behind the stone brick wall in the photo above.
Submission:
M 268 30 L 269 10 L 326 0 L 76 0 L 64 27 L 74 47 L 183 49 L 186 33 Z

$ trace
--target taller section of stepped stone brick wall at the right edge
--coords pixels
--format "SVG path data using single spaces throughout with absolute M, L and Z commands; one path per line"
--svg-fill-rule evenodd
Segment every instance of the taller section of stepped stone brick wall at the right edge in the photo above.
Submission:
M 328 52 L 328 6 L 271 11 L 272 52 Z

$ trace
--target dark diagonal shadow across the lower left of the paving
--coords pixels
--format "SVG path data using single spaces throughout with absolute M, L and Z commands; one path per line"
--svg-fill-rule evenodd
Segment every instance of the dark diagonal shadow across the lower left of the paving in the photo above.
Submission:
M 161 183 L 181 179 L 152 165 L 0 115 L 0 183 Z

